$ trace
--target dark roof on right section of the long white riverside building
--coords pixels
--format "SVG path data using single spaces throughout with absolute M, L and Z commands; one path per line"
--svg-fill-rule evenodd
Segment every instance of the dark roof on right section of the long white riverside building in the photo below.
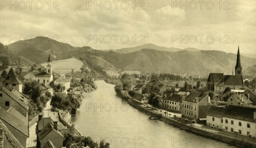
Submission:
M 256 122 L 256 120 L 253 118 L 254 112 L 256 112 L 256 108 L 249 108 L 239 105 L 228 105 L 227 111 L 223 117 Z

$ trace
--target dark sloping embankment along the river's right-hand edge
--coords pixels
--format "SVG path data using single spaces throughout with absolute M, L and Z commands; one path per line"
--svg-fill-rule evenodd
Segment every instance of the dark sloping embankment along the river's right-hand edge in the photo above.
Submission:
M 135 104 L 132 101 L 128 101 L 128 104 L 133 106 L 134 108 L 137 108 L 140 111 L 145 112 L 146 114 L 155 114 L 152 111 L 147 110 L 146 108 L 143 108 L 140 105 Z M 238 146 L 238 147 L 244 147 L 244 148 L 256 148 L 256 143 L 252 143 L 252 142 L 247 142 L 241 139 L 237 139 L 237 138 L 233 138 L 233 137 L 227 137 L 225 135 L 221 135 L 221 134 L 217 134 L 217 133 L 213 133 L 213 132 L 209 132 L 209 131 L 204 131 L 198 128 L 194 128 L 191 127 L 189 125 L 183 124 L 181 122 L 178 122 L 176 120 L 172 120 L 171 118 L 168 117 L 160 117 L 160 120 L 163 122 L 166 122 L 170 125 L 173 125 L 177 128 L 183 129 L 185 131 L 191 132 L 193 134 L 197 134 L 199 136 L 202 137 L 207 137 L 209 139 L 214 139 L 220 142 L 224 142 L 230 145 L 234 145 L 234 146 Z

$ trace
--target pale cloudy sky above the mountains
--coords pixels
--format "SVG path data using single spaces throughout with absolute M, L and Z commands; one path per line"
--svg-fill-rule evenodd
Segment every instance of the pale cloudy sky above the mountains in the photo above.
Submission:
M 146 43 L 256 52 L 256 1 L 0 0 L 0 42 L 44 36 L 72 46 L 119 49 Z

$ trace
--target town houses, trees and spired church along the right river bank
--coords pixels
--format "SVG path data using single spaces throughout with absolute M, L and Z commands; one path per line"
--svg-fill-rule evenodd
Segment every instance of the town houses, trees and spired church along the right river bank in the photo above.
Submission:
M 122 78 L 121 78 L 122 79 Z M 164 81 L 149 80 L 147 83 L 137 81 L 137 85 L 128 90 L 133 102 L 159 111 L 160 114 L 178 113 L 180 120 L 208 126 L 210 129 L 221 130 L 226 133 L 238 133 L 256 138 L 256 89 L 254 82 L 244 83 L 239 48 L 235 66 L 235 74 L 210 73 L 206 86 L 195 86 L 193 91 L 186 91 L 188 84 L 182 88 L 170 88 Z M 126 85 L 124 81 L 116 84 Z M 185 90 L 185 91 L 181 91 Z M 125 90 L 125 89 L 124 89 Z M 191 89 L 190 89 L 191 90 Z M 125 92 L 119 91 L 125 99 Z M 171 115 L 170 115 L 171 117 Z

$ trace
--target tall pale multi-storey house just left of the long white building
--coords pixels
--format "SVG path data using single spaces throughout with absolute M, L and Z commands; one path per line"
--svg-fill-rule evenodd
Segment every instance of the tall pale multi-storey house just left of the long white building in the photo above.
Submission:
M 208 93 L 192 92 L 182 100 L 182 117 L 188 119 L 206 120 L 206 114 L 211 107 Z

